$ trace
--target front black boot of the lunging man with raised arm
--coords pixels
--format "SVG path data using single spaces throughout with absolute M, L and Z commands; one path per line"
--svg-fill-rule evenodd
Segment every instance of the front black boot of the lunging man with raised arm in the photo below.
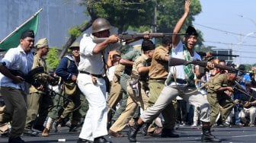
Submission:
M 210 132 L 210 126 L 203 126 L 203 135 L 201 138 L 202 142 L 221 142 L 219 138 L 216 138 L 214 135 Z

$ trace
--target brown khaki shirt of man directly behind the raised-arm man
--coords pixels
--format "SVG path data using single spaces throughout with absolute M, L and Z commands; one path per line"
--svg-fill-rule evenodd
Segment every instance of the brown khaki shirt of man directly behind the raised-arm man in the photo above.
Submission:
M 149 68 L 149 78 L 151 79 L 166 79 L 168 75 L 168 61 L 165 61 L 165 56 L 169 56 L 169 50 L 164 46 L 155 48 L 151 66 Z

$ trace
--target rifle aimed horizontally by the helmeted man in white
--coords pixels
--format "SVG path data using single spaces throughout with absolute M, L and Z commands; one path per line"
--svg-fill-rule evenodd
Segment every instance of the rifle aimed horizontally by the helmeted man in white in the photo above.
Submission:
M 126 42 L 128 40 L 133 39 L 142 39 L 144 36 L 149 35 L 149 37 L 171 37 L 172 35 L 186 35 L 185 33 L 122 33 L 118 34 L 117 37 L 120 38 L 120 42 Z M 106 38 L 95 38 L 92 41 L 94 43 L 102 43 L 104 40 L 107 40 Z

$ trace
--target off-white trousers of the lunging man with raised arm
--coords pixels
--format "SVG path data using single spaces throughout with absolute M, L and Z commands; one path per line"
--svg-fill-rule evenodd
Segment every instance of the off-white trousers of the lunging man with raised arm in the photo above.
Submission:
M 206 95 L 201 94 L 196 87 L 186 86 L 165 86 L 153 106 L 149 106 L 140 116 L 144 122 L 152 122 L 162 110 L 171 103 L 171 100 L 177 96 L 183 98 L 187 103 L 200 107 L 200 120 L 202 122 L 210 122 L 210 105 Z M 195 91 L 192 94 L 191 91 Z

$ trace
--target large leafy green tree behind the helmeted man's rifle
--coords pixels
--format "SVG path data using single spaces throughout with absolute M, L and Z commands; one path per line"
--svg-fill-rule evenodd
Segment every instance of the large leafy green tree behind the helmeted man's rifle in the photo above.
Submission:
M 90 15 L 91 20 L 86 24 L 72 28 L 69 40 L 63 46 L 62 53 L 59 58 L 64 56 L 66 49 L 76 40 L 76 38 L 91 27 L 92 22 L 97 17 L 105 17 L 110 24 L 118 28 L 118 33 L 126 30 L 135 30 L 143 32 L 151 30 L 154 26 L 154 14 L 157 14 L 157 32 L 171 33 L 178 19 L 184 13 L 184 1 L 180 0 L 82 0 Z M 155 13 L 155 8 L 158 11 Z M 194 16 L 201 11 L 199 0 L 191 1 L 190 16 L 184 24 L 185 28 L 192 25 Z M 200 42 L 200 45 L 202 43 Z

